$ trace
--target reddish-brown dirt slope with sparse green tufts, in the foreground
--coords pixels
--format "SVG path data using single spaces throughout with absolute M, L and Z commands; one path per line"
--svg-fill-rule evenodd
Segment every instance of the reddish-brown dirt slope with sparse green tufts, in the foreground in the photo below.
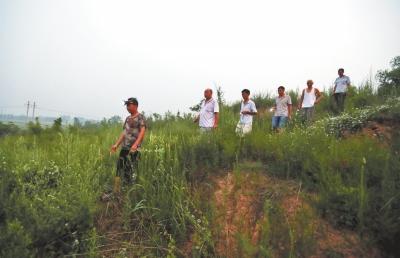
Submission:
M 321 219 L 301 185 L 259 172 L 227 173 L 214 185 L 215 251 L 221 257 L 380 257 L 353 231 Z

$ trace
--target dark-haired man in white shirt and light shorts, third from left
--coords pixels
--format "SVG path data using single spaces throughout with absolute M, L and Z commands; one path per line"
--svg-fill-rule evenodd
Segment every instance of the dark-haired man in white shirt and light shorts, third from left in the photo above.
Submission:
M 257 115 L 257 108 L 254 101 L 250 99 L 250 90 L 242 90 L 243 101 L 240 103 L 240 119 L 236 126 L 236 133 L 244 136 L 251 132 L 253 127 L 253 116 Z

